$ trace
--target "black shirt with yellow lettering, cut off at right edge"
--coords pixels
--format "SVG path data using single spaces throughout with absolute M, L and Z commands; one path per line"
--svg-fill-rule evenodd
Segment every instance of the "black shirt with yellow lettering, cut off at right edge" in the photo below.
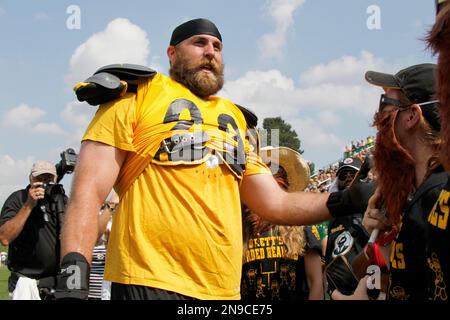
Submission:
M 448 301 L 450 228 L 448 227 L 450 177 L 427 217 L 428 298 Z

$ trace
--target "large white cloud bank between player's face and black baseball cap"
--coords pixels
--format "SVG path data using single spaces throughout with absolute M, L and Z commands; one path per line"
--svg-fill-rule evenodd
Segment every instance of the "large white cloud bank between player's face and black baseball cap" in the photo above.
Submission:
M 380 89 L 365 82 L 369 69 L 392 70 L 382 59 L 363 52 L 313 66 L 298 83 L 276 69 L 249 71 L 228 81 L 221 95 L 253 110 L 260 124 L 267 117 L 282 117 L 299 135 L 305 156 L 316 163 L 334 161 L 348 143 L 343 132 L 355 139 L 367 134 L 351 132 L 349 121 L 361 124 L 360 128 L 367 124 L 371 130 Z

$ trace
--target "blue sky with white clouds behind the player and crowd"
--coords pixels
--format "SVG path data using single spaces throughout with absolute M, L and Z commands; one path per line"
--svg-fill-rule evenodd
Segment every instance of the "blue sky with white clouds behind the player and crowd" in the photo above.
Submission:
M 332 163 L 351 140 L 374 134 L 380 90 L 365 83 L 365 71 L 435 61 L 420 40 L 434 22 L 433 3 L 0 1 L 0 204 L 27 184 L 35 160 L 56 163 L 62 150 L 78 151 L 95 108 L 76 101 L 77 81 L 109 63 L 145 64 L 167 74 L 173 28 L 198 17 L 213 20 L 222 33 L 220 95 L 261 121 L 283 117 L 299 135 L 305 159 L 316 168 Z M 374 22 L 370 6 L 379 9 L 379 29 L 367 26 Z M 63 180 L 67 189 L 70 181 Z

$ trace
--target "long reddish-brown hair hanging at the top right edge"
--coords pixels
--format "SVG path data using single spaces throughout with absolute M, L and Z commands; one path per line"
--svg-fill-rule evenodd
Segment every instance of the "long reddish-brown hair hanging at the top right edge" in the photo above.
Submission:
M 439 53 L 437 67 L 438 99 L 441 113 L 441 163 L 450 170 L 450 3 L 447 3 L 427 37 L 428 45 Z

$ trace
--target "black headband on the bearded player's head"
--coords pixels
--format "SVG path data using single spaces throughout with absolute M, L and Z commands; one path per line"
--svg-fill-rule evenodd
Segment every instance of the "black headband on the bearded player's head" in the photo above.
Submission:
M 207 19 L 195 19 L 180 24 L 173 30 L 170 45 L 176 46 L 181 41 L 199 34 L 214 36 L 222 41 L 222 36 L 214 23 Z

